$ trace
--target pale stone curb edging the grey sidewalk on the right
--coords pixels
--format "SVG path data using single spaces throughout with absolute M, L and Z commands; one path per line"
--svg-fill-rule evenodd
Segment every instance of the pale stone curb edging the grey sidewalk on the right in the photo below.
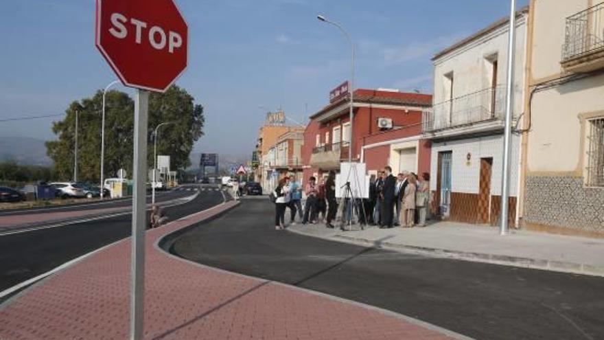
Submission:
M 431 247 L 419 247 L 413 245 L 398 245 L 391 242 L 378 242 L 367 240 L 364 238 L 355 238 L 344 235 L 334 236 L 319 236 L 315 234 L 305 233 L 304 231 L 286 228 L 286 230 L 303 235 L 316 238 L 323 238 L 325 240 L 332 240 L 336 242 L 345 242 L 353 245 L 369 246 L 379 249 L 386 249 L 391 251 L 399 252 L 411 252 L 418 253 L 421 255 L 433 256 L 436 258 L 451 258 L 454 260 L 463 260 L 471 262 L 483 262 L 489 264 L 499 264 L 508 267 L 519 267 L 525 269 L 539 269 L 544 271 L 553 271 L 557 273 L 570 273 L 579 275 L 590 275 L 597 277 L 604 277 L 604 267 L 596 267 L 590 264 L 577 264 L 574 262 L 564 261 L 552 261 L 552 260 L 539 260 L 534 258 L 522 258 L 520 256 L 509 256 L 509 255 L 497 255 L 489 253 L 475 253 L 470 251 L 456 251 L 450 249 L 440 249 Z M 377 244 L 377 245 L 376 245 Z

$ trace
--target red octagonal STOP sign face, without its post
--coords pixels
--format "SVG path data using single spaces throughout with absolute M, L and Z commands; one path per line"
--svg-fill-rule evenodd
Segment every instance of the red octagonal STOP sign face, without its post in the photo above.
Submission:
M 130 87 L 163 92 L 187 67 L 187 23 L 172 0 L 97 0 L 96 46 Z

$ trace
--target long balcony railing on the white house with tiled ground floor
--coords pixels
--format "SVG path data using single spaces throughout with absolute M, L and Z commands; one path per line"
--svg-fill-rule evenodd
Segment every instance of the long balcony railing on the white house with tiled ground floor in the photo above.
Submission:
M 423 110 L 422 132 L 430 133 L 480 122 L 503 120 L 505 89 L 490 87 Z

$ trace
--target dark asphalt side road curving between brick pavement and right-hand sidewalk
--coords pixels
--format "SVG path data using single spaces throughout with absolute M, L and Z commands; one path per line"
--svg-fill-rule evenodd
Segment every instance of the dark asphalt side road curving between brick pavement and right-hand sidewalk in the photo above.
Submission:
M 379 306 L 476 339 L 604 339 L 604 279 L 429 258 L 275 231 L 268 200 L 184 234 L 173 252 Z M 341 316 L 342 319 L 346 315 Z

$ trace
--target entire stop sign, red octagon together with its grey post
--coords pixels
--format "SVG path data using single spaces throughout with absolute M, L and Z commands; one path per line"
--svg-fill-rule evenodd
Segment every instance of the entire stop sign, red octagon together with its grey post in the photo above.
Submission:
M 187 67 L 188 27 L 173 0 L 97 0 L 95 45 L 121 82 L 137 89 L 132 195 L 130 339 L 143 338 L 147 128 L 150 91 Z

